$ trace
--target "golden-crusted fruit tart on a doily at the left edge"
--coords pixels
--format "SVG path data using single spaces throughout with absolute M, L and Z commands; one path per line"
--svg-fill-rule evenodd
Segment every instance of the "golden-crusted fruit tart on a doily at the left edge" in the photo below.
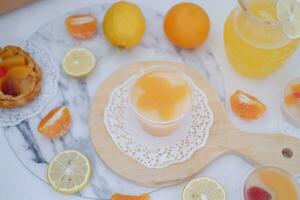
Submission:
M 29 53 L 16 46 L 0 48 L 0 108 L 32 102 L 41 91 L 42 72 Z

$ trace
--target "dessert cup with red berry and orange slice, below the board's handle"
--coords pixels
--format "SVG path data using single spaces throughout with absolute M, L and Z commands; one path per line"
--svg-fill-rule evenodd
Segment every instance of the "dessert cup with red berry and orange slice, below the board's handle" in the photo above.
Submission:
M 299 185 L 286 171 L 261 167 L 246 179 L 245 200 L 299 200 Z

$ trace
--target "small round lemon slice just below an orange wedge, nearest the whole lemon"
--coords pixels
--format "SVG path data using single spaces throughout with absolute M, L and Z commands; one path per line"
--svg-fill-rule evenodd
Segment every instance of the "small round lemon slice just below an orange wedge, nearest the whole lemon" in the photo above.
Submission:
M 85 48 L 71 49 L 63 59 L 65 72 L 73 77 L 88 75 L 94 69 L 95 65 L 95 56 Z

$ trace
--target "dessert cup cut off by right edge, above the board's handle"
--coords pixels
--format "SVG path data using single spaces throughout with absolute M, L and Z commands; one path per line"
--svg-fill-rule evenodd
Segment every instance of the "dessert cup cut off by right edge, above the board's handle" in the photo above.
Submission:
M 282 115 L 289 124 L 300 129 L 300 77 L 290 81 L 283 93 Z

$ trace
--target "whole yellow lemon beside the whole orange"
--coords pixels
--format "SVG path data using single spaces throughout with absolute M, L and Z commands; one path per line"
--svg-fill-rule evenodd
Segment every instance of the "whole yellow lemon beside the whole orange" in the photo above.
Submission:
M 102 28 L 104 36 L 112 45 L 132 48 L 143 38 L 146 22 L 137 5 L 120 1 L 114 3 L 106 12 Z

